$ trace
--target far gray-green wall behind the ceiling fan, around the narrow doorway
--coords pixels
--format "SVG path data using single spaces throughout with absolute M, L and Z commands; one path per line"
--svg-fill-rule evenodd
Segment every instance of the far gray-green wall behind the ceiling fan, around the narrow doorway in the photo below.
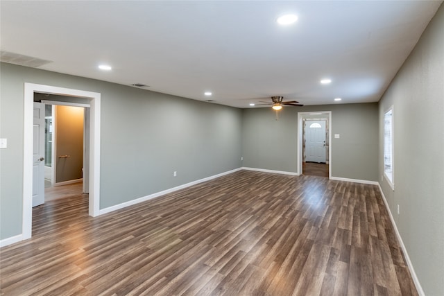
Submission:
M 244 110 L 243 166 L 296 173 L 298 112 L 332 112 L 332 177 L 377 181 L 377 103 L 284 107 L 279 120 L 271 108 Z

